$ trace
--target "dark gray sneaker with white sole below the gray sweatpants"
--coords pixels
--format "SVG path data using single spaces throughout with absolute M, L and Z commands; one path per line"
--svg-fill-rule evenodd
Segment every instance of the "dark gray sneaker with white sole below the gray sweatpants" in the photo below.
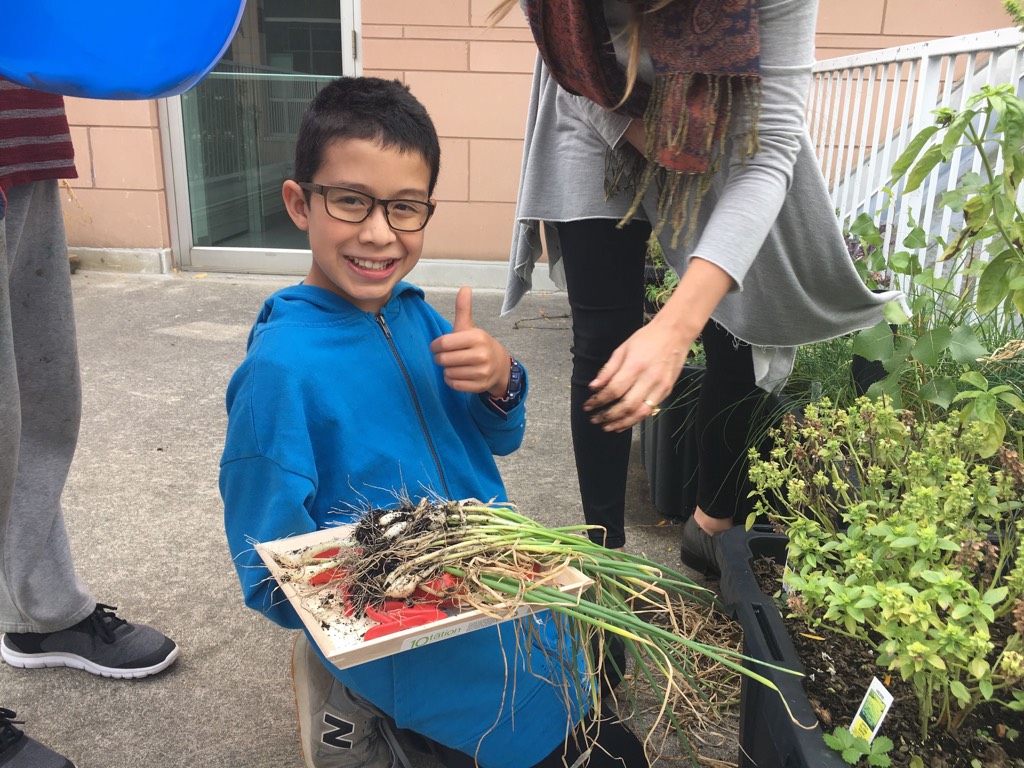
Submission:
M 8 632 L 0 656 L 12 667 L 72 667 L 93 675 L 137 678 L 155 675 L 178 657 L 178 646 L 151 627 L 128 624 L 110 605 L 58 632 Z

